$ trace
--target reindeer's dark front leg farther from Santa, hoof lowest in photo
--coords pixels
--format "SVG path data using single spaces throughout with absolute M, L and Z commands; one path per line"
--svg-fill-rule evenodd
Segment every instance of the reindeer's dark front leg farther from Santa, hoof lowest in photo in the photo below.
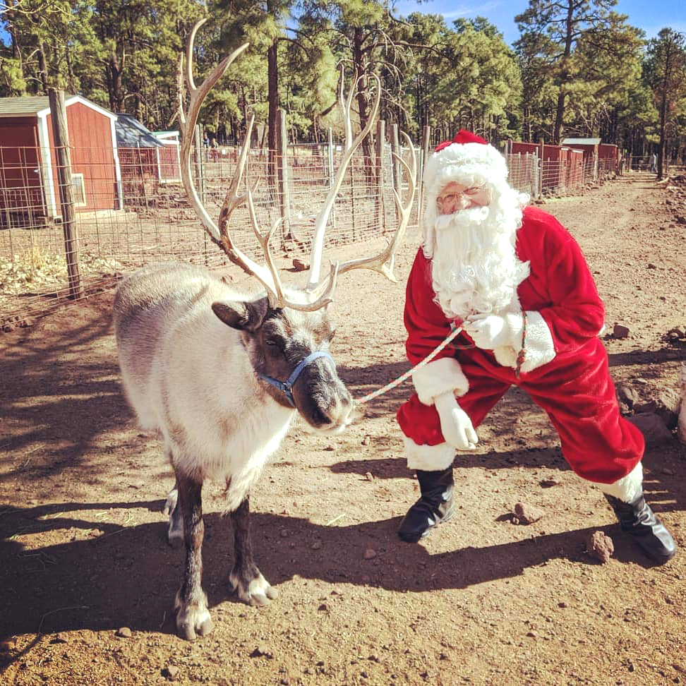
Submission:
M 183 536 L 186 541 L 186 570 L 183 583 L 176 593 L 176 632 L 188 641 L 212 631 L 212 620 L 207 610 L 207 596 L 203 591 L 203 484 L 187 476 L 176 474 L 179 505 L 183 516 Z

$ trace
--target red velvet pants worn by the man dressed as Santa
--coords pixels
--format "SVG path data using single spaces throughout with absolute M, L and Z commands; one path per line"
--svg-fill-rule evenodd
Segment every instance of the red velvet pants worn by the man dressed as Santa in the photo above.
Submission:
M 620 415 L 600 339 L 590 339 L 573 356 L 558 356 L 519 378 L 488 351 L 456 352 L 469 380 L 469 390 L 457 402 L 474 428 L 514 384 L 546 411 L 558 431 L 562 455 L 582 479 L 613 483 L 641 460 L 643 435 Z M 402 432 L 417 445 L 444 443 L 435 407 L 419 402 L 416 394 L 399 408 L 397 420 Z

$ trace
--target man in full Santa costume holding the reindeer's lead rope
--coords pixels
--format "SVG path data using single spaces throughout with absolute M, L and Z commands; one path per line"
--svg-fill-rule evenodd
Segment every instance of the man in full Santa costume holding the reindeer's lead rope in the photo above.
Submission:
M 416 392 L 397 413 L 421 489 L 400 538 L 419 541 L 452 516 L 455 451 L 475 447 L 476 428 L 517 385 L 548 414 L 574 473 L 596 483 L 644 553 L 666 562 L 675 543 L 644 499 L 644 440 L 620 416 L 598 337 L 605 309 L 576 241 L 526 206 L 503 155 L 469 131 L 436 148 L 424 188 L 404 311 L 409 361 L 462 332 L 414 373 Z

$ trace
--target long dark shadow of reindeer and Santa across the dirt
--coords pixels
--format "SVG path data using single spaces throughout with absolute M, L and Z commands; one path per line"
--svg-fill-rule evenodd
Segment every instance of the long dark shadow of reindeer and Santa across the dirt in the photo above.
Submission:
M 121 626 L 173 634 L 173 599 L 183 576 L 185 553 L 167 545 L 167 522 L 162 514 L 159 522 L 130 527 L 94 523 L 68 514 L 108 507 L 159 511 L 162 505 L 159 500 L 5 508 L 0 519 L 0 555 L 4 560 L 0 583 L 6 603 L 0 614 L 0 637 L 116 630 Z M 11 533 L 22 523 L 37 521 L 46 524 L 43 530 L 85 531 L 97 526 L 102 534 L 24 550 L 11 539 Z M 464 546 L 431 555 L 422 545 L 399 541 L 398 524 L 399 517 L 392 517 L 351 526 L 323 526 L 300 517 L 253 513 L 255 561 L 272 585 L 282 586 L 282 597 L 287 597 L 288 582 L 296 574 L 330 584 L 424 592 L 466 589 L 517 577 L 529 567 L 553 558 L 593 564 L 584 554 L 584 540 L 591 529 L 481 548 Z M 229 594 L 227 585 L 231 540 L 229 520 L 216 512 L 205 514 L 203 586 L 210 608 L 226 601 L 238 602 Z M 313 549 L 314 541 L 320 541 L 321 547 Z M 351 560 L 361 560 L 361 551 L 366 548 L 376 550 L 377 557 L 351 565 Z M 620 541 L 615 558 L 649 566 L 636 559 L 630 543 Z M 431 574 L 416 573 L 428 565 Z

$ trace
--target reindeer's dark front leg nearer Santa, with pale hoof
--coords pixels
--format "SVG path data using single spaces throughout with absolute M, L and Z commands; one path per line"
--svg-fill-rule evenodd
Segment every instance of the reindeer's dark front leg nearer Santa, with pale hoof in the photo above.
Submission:
M 229 574 L 229 584 L 244 603 L 253 607 L 269 605 L 278 596 L 262 576 L 253 560 L 250 540 L 250 503 L 248 496 L 231 512 L 234 522 L 234 568 Z

